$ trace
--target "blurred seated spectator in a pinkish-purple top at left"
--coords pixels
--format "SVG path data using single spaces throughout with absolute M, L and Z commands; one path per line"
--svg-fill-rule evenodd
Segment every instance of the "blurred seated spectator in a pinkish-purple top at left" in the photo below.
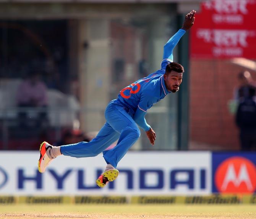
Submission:
M 41 126 L 47 123 L 47 88 L 44 82 L 41 81 L 41 74 L 39 71 L 31 71 L 29 77 L 21 82 L 17 93 L 17 104 L 18 107 L 21 108 L 33 107 L 36 109 L 36 125 Z M 26 109 L 20 109 L 20 125 L 28 125 L 27 114 L 28 111 Z

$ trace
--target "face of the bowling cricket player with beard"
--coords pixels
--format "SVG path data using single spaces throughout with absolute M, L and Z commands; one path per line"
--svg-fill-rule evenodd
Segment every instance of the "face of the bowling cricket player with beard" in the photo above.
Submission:
M 178 73 L 171 71 L 169 74 L 164 74 L 164 82 L 167 90 L 175 93 L 180 89 L 180 84 L 182 82 L 183 73 Z

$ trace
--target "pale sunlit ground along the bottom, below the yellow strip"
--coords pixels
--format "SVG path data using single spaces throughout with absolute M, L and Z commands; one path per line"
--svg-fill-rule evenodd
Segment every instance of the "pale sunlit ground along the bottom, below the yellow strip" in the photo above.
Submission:
M 255 205 L 0 205 L 1 219 L 256 219 Z

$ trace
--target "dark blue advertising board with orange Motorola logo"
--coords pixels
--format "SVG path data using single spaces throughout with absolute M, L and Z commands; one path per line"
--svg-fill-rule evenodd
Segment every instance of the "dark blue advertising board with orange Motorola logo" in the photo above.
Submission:
M 255 190 L 255 153 L 212 153 L 212 192 L 251 194 Z

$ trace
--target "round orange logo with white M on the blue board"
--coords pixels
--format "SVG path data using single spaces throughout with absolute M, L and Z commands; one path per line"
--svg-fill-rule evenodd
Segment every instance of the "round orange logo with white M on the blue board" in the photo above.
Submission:
M 256 166 L 245 157 L 224 160 L 214 176 L 220 193 L 253 193 L 256 190 Z

